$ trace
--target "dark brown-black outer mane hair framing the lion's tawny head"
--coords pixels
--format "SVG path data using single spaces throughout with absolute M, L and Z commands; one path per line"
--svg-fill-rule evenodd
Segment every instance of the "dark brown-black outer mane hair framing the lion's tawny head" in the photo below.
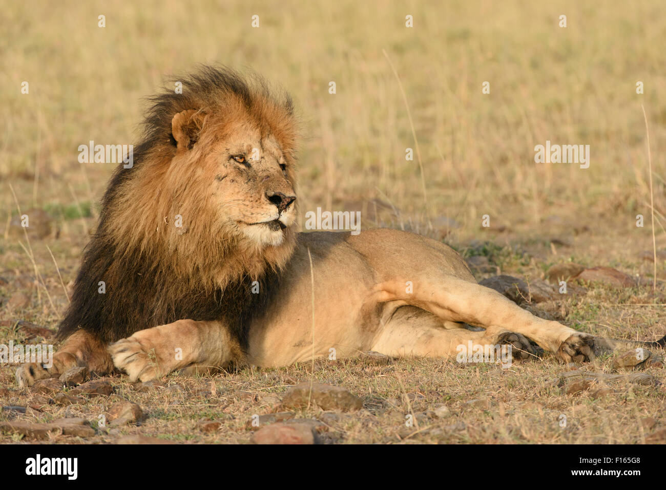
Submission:
M 260 276 L 238 274 L 227 284 L 210 288 L 201 279 L 212 274 L 212 271 L 202 270 L 205 267 L 200 264 L 207 262 L 196 262 L 193 258 L 191 274 L 183 277 L 182 269 L 177 270 L 173 264 L 176 259 L 168 256 L 168 248 L 147 249 L 130 244 L 134 242 L 118 236 L 111 226 L 113 220 L 118 220 L 119 213 L 131 219 L 133 213 L 142 212 L 119 204 L 121 198 L 127 202 L 125 184 L 141 172 L 142 166 L 158 161 L 168 165 L 176 153 L 171 121 L 177 113 L 189 109 L 216 113 L 224 101 L 233 97 L 248 113 L 256 113 L 257 120 L 271 128 L 276 126 L 279 130 L 278 126 L 292 119 L 290 97 L 284 92 L 272 95 L 266 83 L 256 76 L 243 78 L 230 69 L 202 67 L 194 75 L 174 80 L 182 82 L 182 94 L 169 88 L 149 99 L 151 107 L 143 122 L 142 141 L 133 152 L 133 167 L 123 168 L 121 163 L 109 182 L 101 202 L 97 232 L 85 248 L 71 304 L 59 325 L 59 340 L 83 329 L 109 343 L 176 320 L 224 320 L 244 350 L 248 322 L 270 302 L 270 292 L 279 281 L 279 271 L 272 264 L 266 264 Z M 266 117 L 266 101 L 276 115 L 273 120 L 270 114 Z M 289 151 L 289 141 L 285 146 Z M 159 183 L 155 184 L 155 189 L 161 191 Z M 144 233 L 151 238 L 151 232 Z M 212 240 L 206 240 L 205 237 L 201 240 L 202 257 L 207 254 L 224 260 L 224 254 L 233 251 L 233 244 L 213 244 Z M 255 280 L 260 294 L 252 294 Z M 101 282 L 105 283 L 104 293 L 99 292 Z

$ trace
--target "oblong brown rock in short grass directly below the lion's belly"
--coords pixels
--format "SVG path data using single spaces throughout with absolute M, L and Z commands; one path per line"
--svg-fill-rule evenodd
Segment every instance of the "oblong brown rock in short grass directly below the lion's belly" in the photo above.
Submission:
M 282 407 L 307 407 L 308 401 L 316 403 L 322 410 L 353 411 L 363 407 L 363 400 L 344 387 L 321 383 L 311 386 L 307 381 L 287 389 Z

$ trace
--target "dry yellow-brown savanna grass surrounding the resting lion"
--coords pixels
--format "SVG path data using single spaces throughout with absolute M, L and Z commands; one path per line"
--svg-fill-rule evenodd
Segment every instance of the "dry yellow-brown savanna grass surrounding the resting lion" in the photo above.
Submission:
M 468 258 L 486 257 L 487 264 L 474 259 L 483 265 L 478 279 L 501 273 L 537 280 L 561 262 L 613 267 L 645 284 L 585 284 L 529 308 L 591 334 L 660 338 L 666 333 L 665 13 L 658 0 L 8 3 L 0 19 L 0 342 L 53 342 L 44 331 L 31 337 L 16 320 L 55 330 L 95 229 L 112 165 L 79 164 L 79 144 L 137 143 L 141 98 L 163 75 L 195 63 L 251 67 L 292 93 L 305 134 L 302 222 L 317 206 L 362 209 L 366 228 L 409 228 Z M 412 29 L 405 27 L 408 14 Z M 257 29 L 250 27 L 252 15 L 260 16 Z M 559 15 L 567 15 L 567 27 L 558 27 Z M 414 132 L 382 50 L 402 83 Z M 21 94 L 23 81 L 28 94 Z M 328 93 L 330 81 L 335 95 Z M 641 104 L 661 251 L 656 292 Z M 406 148 L 417 148 L 414 135 L 418 152 L 406 161 Z M 589 168 L 535 164 L 533 147 L 546 140 L 589 144 Z M 30 216 L 29 240 L 17 225 L 17 206 Z M 484 214 L 490 228 L 481 226 Z M 645 216 L 642 228 L 637 214 Z M 586 369 L 609 373 L 612 359 Z M 149 391 L 116 377 L 113 395 L 63 406 L 17 387 L 15 366 L 2 366 L 0 404 L 27 408 L 2 411 L 0 422 L 85 417 L 95 426 L 111 404 L 129 399 L 146 414 L 139 425 L 86 439 L 55 432 L 49 440 L 113 442 L 140 433 L 242 443 L 250 440 L 253 414 L 281 411 L 288 386 L 314 379 L 364 401 L 350 414 L 296 411 L 297 418 L 323 421 L 328 442 L 641 443 L 666 427 L 663 385 L 617 382 L 606 395 L 568 395 L 557 386 L 567 369 L 549 354 L 510 369 L 441 359 L 386 366 L 318 360 L 314 369 L 170 375 Z M 663 367 L 647 372 L 666 381 Z M 407 414 L 415 416 L 414 427 L 406 427 Z M 220 428 L 201 431 L 206 419 Z M 0 441 L 29 439 L 7 433 Z

